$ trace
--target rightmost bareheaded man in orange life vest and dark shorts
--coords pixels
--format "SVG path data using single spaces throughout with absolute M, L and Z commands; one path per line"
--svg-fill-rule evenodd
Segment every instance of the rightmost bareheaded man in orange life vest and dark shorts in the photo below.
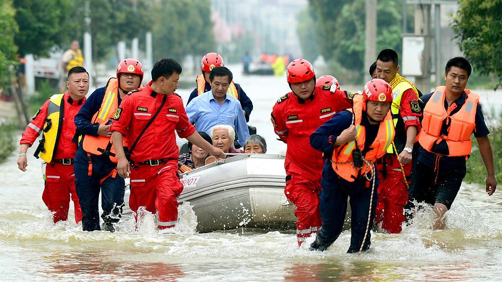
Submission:
M 486 193 L 491 196 L 497 186 L 489 130 L 479 96 L 465 89 L 470 74 L 471 65 L 466 59 L 450 59 L 444 73 L 446 85 L 422 96 L 425 108 L 414 193 L 418 202 L 434 205 L 433 229 L 445 228 L 444 214 L 450 209 L 465 177 L 472 133 L 488 173 Z

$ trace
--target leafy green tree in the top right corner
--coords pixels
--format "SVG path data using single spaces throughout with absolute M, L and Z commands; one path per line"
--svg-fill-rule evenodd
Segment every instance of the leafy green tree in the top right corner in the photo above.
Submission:
M 458 46 L 477 72 L 498 78 L 496 89 L 502 84 L 502 0 L 459 0 L 459 4 L 452 25 Z

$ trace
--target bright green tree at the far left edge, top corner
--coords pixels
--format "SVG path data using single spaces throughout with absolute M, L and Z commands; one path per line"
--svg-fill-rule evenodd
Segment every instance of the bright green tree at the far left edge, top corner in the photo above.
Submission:
M 9 84 L 12 70 L 9 66 L 15 65 L 15 55 L 17 51 L 14 37 L 18 31 L 16 24 L 15 9 L 11 0 L 0 0 L 0 85 Z

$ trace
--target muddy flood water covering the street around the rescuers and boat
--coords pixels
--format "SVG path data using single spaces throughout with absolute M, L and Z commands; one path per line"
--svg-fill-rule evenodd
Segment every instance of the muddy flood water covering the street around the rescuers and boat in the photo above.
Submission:
M 255 104 L 250 124 L 276 153 L 281 144 L 269 115 L 289 90 L 285 79 L 236 73 L 234 80 Z M 189 91 L 178 93 L 186 101 Z M 502 194 L 488 197 L 481 185 L 462 185 L 447 212 L 446 230 L 432 231 L 431 210 L 424 209 L 401 234 L 373 233 L 370 251 L 346 254 L 349 231 L 325 252 L 311 252 L 313 238 L 298 248 L 291 232 L 198 234 L 195 222 L 183 218 L 176 234 L 160 234 L 151 218 L 138 231 L 124 218 L 115 233 L 83 232 L 72 210 L 71 220 L 54 225 L 41 199 L 39 161 L 30 157 L 23 173 L 16 159 L 14 154 L 0 165 L 2 281 L 495 281 L 502 276 L 502 206 L 478 207 L 501 201 Z

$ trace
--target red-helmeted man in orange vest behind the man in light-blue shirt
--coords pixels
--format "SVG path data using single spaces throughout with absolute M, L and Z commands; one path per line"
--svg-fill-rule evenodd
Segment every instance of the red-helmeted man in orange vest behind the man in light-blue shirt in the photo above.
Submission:
M 200 69 L 201 74 L 197 76 L 195 80 L 197 82 L 197 87 L 192 91 L 190 97 L 188 98 L 187 105 L 192 101 L 193 98 L 201 95 L 202 93 L 211 91 L 211 81 L 209 80 L 209 74 L 215 67 L 224 67 L 223 58 L 218 53 L 207 53 L 202 57 L 202 62 Z M 230 86 L 228 87 L 227 94 L 235 97 L 240 102 L 242 107 L 242 112 L 246 118 L 246 122 L 249 121 L 249 115 L 253 110 L 253 102 L 249 97 L 247 97 L 246 92 L 242 90 L 239 84 L 230 81 Z

